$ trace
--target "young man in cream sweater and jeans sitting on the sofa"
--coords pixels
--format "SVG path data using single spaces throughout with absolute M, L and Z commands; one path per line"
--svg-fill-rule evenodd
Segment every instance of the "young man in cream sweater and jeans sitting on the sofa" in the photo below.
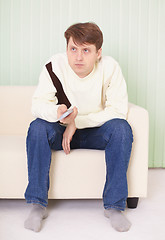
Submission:
M 25 192 L 33 207 L 25 227 L 39 231 L 47 216 L 51 149 L 69 154 L 71 149 L 87 148 L 105 150 L 104 214 L 117 231 L 128 231 L 131 224 L 122 211 L 133 136 L 125 120 L 126 83 L 118 63 L 102 57 L 103 35 L 96 24 L 72 25 L 65 38 L 66 54 L 53 56 L 43 67 L 33 96 L 36 120 L 27 136 L 29 183 Z M 70 107 L 73 112 L 59 122 Z

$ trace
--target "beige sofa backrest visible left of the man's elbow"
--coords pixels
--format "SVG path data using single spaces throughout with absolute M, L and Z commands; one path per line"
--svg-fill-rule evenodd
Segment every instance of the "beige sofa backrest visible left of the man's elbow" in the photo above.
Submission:
M 36 86 L 0 86 L 0 135 L 26 135 Z

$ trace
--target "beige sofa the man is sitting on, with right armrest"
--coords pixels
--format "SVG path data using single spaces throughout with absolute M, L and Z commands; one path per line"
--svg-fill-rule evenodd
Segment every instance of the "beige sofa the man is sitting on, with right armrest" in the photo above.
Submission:
M 24 198 L 27 186 L 26 133 L 31 122 L 34 86 L 0 87 L 0 198 Z M 134 134 L 128 168 L 129 197 L 146 197 L 148 174 L 148 112 L 129 104 L 128 122 Z M 94 169 L 93 169 L 93 166 Z M 102 198 L 104 151 L 52 152 L 51 199 Z

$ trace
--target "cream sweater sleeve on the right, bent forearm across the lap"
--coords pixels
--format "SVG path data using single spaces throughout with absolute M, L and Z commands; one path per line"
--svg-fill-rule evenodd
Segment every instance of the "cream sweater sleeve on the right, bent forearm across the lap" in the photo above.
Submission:
M 128 95 L 126 82 L 117 64 L 113 74 L 103 86 L 103 109 L 96 113 L 79 115 L 75 119 L 76 127 L 99 127 L 114 118 L 126 119 L 128 111 Z

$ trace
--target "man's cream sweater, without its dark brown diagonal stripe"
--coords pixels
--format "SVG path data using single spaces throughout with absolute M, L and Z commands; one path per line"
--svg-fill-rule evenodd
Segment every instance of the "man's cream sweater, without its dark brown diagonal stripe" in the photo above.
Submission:
M 78 108 L 76 127 L 98 127 L 113 118 L 126 119 L 128 95 L 118 63 L 104 56 L 86 77 L 78 77 L 68 64 L 67 55 L 56 54 L 48 62 L 62 83 L 72 107 Z M 57 121 L 56 89 L 46 67 L 32 99 L 32 114 L 49 122 Z

